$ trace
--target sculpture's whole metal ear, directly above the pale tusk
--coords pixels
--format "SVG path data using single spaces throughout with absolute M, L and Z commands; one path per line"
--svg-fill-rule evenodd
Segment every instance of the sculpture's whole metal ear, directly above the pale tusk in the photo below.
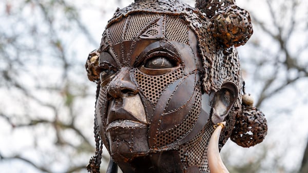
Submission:
M 238 89 L 232 82 L 224 83 L 219 91 L 215 93 L 211 103 L 211 121 L 214 124 L 221 123 L 228 115 L 238 98 Z

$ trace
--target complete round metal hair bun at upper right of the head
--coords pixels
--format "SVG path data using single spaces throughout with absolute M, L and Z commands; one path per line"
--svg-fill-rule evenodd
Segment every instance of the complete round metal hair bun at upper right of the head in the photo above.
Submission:
M 218 11 L 210 21 L 210 31 L 225 48 L 244 45 L 253 34 L 249 13 L 236 5 Z

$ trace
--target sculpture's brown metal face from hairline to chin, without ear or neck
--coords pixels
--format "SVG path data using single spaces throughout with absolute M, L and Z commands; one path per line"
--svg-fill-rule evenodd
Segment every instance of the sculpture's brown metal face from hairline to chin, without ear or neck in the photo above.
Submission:
M 138 30 L 134 19 L 148 22 Z M 96 117 L 111 156 L 130 159 L 175 146 L 201 112 L 195 33 L 176 17 L 136 15 L 108 27 L 103 42 Z

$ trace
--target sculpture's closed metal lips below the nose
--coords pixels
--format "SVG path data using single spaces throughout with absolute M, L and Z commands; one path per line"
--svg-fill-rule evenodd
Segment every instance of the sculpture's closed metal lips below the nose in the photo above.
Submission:
M 107 125 L 106 131 L 120 129 L 120 128 L 122 129 L 147 128 L 147 125 L 132 120 L 116 120 Z

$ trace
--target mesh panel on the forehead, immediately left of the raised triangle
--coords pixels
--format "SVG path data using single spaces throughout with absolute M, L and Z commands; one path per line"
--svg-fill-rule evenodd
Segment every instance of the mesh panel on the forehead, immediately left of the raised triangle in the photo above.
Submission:
M 144 29 L 150 22 L 158 18 L 160 14 L 136 14 L 129 18 L 127 30 L 125 32 L 124 40 L 129 41 L 136 38 L 136 36 Z

